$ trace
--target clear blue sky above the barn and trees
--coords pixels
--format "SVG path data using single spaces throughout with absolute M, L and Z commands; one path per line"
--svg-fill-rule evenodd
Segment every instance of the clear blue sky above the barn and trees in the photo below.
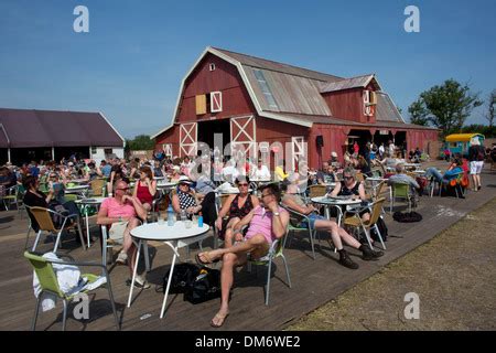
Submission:
M 75 33 L 74 8 L 89 10 Z M 420 33 L 403 31 L 407 6 Z M 376 73 L 403 109 L 444 79 L 496 88 L 496 1 L 0 0 L 0 107 L 103 111 L 154 133 L 207 45 L 338 76 Z M 484 107 L 486 110 L 486 107 Z M 482 108 L 467 122 L 485 122 Z

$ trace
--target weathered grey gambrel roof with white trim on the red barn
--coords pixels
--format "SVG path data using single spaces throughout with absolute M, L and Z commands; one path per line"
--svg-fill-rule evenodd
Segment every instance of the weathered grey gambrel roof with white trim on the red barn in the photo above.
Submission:
M 261 117 L 305 127 L 312 127 L 317 121 L 320 121 L 319 124 L 342 124 L 346 121 L 347 125 L 359 126 L 362 124 L 341 120 L 333 116 L 322 94 L 365 87 L 373 82 L 379 93 L 377 95 L 377 122 L 381 125 L 389 122 L 405 124 L 389 95 L 381 92 L 374 74 L 345 78 L 208 46 L 182 81 L 171 125 L 151 138 L 158 137 L 174 125 L 185 82 L 207 54 L 218 56 L 238 68 L 257 114 Z M 405 127 L 410 126 L 406 125 Z

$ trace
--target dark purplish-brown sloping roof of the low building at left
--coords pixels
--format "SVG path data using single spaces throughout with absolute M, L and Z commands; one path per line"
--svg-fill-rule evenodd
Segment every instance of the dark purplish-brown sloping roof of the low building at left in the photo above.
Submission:
M 0 147 L 122 147 L 123 140 L 99 113 L 0 108 L 10 139 Z

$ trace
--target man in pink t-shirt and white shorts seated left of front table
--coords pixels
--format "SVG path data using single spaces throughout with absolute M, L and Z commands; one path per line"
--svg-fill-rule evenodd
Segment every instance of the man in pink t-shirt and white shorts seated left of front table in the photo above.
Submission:
M 147 220 L 147 210 L 138 197 L 131 196 L 127 181 L 118 180 L 114 185 L 114 197 L 107 197 L 101 203 L 97 224 L 110 226 L 111 238 L 119 239 L 119 243 L 122 242 L 122 250 L 117 257 L 117 263 L 123 265 L 130 258 L 131 260 L 127 263 L 131 277 L 137 253 L 131 238 L 131 229 L 139 226 L 141 220 Z M 127 282 L 130 284 L 131 280 L 129 279 Z M 137 276 L 136 286 L 139 288 L 150 287 L 142 276 Z

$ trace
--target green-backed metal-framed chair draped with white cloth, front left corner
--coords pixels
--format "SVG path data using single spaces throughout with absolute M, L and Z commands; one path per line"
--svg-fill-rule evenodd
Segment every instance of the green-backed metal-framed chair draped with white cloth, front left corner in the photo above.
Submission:
M 61 256 L 61 255 L 58 255 L 58 256 Z M 95 263 L 75 263 L 74 260 L 72 260 L 72 261 L 53 260 L 53 259 L 44 258 L 42 256 L 42 254 L 32 253 L 32 252 L 24 252 L 24 257 L 30 261 L 31 266 L 33 266 L 33 269 L 36 272 L 37 279 L 40 281 L 40 287 L 42 289 L 42 291 L 40 292 L 40 295 L 36 298 L 36 307 L 35 307 L 34 318 L 33 318 L 32 325 L 31 325 L 32 331 L 35 331 L 35 328 L 36 328 L 36 321 L 37 321 L 37 315 L 40 312 L 41 299 L 44 293 L 55 295 L 56 297 L 58 297 L 60 299 L 63 300 L 64 312 L 63 312 L 63 317 L 62 317 L 62 331 L 65 331 L 68 302 L 71 302 L 71 300 L 73 300 L 79 293 L 87 293 L 87 292 L 95 290 L 97 288 L 100 288 L 103 286 L 107 287 L 108 296 L 110 299 L 110 304 L 112 307 L 114 319 L 116 320 L 116 327 L 117 327 L 117 330 L 120 330 L 119 319 L 117 317 L 116 303 L 114 301 L 114 295 L 112 295 L 112 289 L 111 289 L 111 285 L 110 285 L 110 276 L 108 276 L 107 268 L 104 265 L 95 264 Z M 65 256 L 65 257 L 68 257 L 68 256 Z M 68 258 L 71 258 L 71 257 L 68 257 Z M 83 288 L 80 291 L 74 292 L 71 296 L 68 296 L 61 290 L 61 288 L 58 286 L 57 276 L 55 274 L 55 270 L 53 269 L 52 264 L 73 265 L 73 266 L 80 266 L 80 267 L 100 267 L 103 269 L 103 276 L 106 278 L 107 282 L 104 285 L 100 285 L 99 287 L 91 289 L 91 290 L 85 290 Z M 87 278 L 89 284 L 93 284 L 98 279 L 98 276 L 93 275 L 93 274 L 84 274 L 84 275 L 82 274 L 82 277 Z

